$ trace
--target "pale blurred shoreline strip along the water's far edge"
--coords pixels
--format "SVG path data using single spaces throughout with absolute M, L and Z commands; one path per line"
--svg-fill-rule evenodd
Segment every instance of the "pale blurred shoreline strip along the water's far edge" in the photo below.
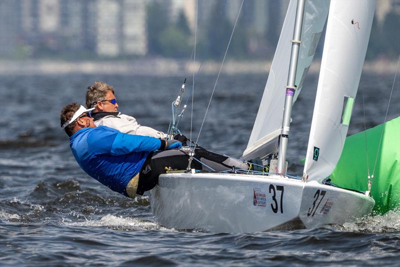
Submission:
M 272 61 L 226 61 L 221 74 L 267 74 Z M 202 74 L 217 74 L 220 62 L 207 61 L 201 66 Z M 395 61 L 365 62 L 363 72 L 394 74 Z M 65 75 L 65 74 L 115 74 L 135 76 L 182 76 L 197 72 L 200 62 L 188 63 L 175 59 L 135 59 L 130 61 L 51 61 L 51 60 L 0 60 L 0 75 Z M 314 60 L 309 73 L 318 73 L 320 60 Z

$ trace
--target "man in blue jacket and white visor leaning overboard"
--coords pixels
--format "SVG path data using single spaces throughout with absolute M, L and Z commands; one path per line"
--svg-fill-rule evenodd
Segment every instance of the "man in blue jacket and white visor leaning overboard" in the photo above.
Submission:
M 91 110 L 72 103 L 60 115 L 61 127 L 69 136 L 72 154 L 82 170 L 111 190 L 132 198 L 154 187 L 160 173 L 149 176 L 148 170 L 142 170 L 144 163 L 151 159 L 152 151 L 181 148 L 181 143 L 96 127 Z M 183 164 L 187 166 L 187 161 Z

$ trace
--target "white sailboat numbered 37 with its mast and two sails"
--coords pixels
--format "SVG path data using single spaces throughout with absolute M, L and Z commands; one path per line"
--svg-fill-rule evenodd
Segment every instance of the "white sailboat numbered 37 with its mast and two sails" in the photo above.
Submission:
M 370 0 L 291 0 L 242 155 L 269 163 L 269 172 L 160 175 L 150 191 L 155 221 L 176 229 L 256 232 L 343 224 L 369 214 L 374 200 L 368 192 L 343 189 L 325 178 L 344 145 L 374 9 Z M 291 176 L 285 160 L 290 114 L 326 18 L 304 171 Z

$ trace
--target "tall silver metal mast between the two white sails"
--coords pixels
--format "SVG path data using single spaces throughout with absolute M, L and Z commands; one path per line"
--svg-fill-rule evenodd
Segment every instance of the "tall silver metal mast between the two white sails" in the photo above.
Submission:
M 287 76 L 286 97 L 284 100 L 282 130 L 279 142 L 277 173 L 281 174 L 286 173 L 285 169 L 286 150 L 287 150 L 287 142 L 290 130 L 291 107 L 295 90 L 294 83 L 296 79 L 298 51 L 300 50 L 300 43 L 301 43 L 300 38 L 301 38 L 301 28 L 304 15 L 304 5 L 305 5 L 305 0 L 297 1 L 293 40 L 291 41 L 290 65 L 289 65 L 289 74 Z

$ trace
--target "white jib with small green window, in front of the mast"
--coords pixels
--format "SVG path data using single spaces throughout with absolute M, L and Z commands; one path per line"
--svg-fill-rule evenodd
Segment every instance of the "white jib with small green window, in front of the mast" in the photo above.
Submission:
M 365 59 L 375 1 L 331 1 L 304 177 L 322 180 L 339 160 Z

